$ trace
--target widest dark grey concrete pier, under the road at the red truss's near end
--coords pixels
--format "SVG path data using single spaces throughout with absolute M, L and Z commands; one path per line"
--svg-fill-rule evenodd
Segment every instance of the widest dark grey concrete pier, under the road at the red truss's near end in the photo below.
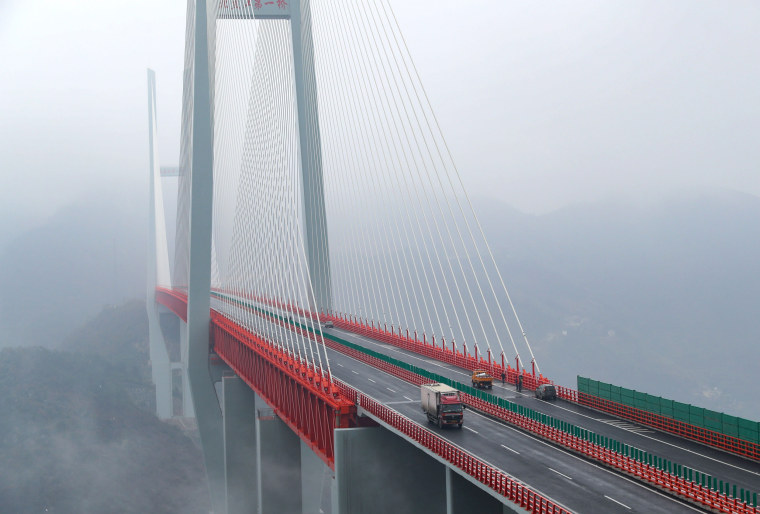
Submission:
M 333 514 L 446 512 L 446 503 L 440 462 L 383 428 L 335 430 Z

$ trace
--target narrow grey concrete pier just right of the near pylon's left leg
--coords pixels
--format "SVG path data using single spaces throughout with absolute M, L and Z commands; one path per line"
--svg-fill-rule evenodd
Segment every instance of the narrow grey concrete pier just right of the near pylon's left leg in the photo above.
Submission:
M 223 377 L 222 401 L 227 514 L 257 512 L 256 393 L 238 376 Z

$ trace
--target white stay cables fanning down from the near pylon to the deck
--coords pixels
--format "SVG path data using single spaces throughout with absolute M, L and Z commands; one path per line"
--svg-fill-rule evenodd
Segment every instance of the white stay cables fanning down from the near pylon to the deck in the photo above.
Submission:
M 340 315 L 535 361 L 390 4 L 302 13 L 324 193 L 301 182 L 290 21 L 215 24 L 214 308 L 327 374 L 324 346 L 278 320 L 318 334 L 319 314 Z M 327 218 L 311 267 L 309 201 Z M 319 308 L 311 274 L 329 279 Z

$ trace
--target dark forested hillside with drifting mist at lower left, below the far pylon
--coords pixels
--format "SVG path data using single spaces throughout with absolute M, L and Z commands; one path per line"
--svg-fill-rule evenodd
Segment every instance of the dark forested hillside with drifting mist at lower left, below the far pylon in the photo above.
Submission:
M 0 512 L 205 513 L 199 449 L 159 421 L 141 302 L 61 350 L 0 350 Z

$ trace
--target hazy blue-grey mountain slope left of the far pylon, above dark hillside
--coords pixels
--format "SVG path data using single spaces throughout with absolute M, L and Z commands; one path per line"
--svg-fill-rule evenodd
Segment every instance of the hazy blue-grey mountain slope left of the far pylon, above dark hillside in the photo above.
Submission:
M 143 218 L 103 201 L 62 209 L 0 251 L 0 347 L 57 346 L 145 291 Z

